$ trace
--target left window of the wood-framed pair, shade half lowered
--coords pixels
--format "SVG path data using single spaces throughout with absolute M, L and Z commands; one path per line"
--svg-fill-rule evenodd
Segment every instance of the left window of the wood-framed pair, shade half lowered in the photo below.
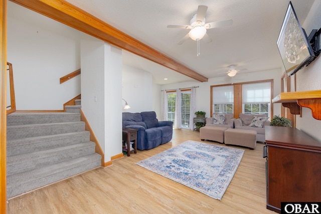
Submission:
M 213 87 L 213 113 L 233 113 L 234 87 Z

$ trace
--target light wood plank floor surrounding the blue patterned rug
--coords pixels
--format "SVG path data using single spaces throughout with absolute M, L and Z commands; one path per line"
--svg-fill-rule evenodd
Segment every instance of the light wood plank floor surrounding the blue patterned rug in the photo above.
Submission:
M 138 150 L 137 154 L 114 160 L 107 168 L 10 199 L 8 213 L 275 213 L 266 209 L 263 143 L 257 143 L 255 150 L 244 148 L 241 163 L 222 200 L 135 164 L 186 140 L 201 141 L 199 132 L 175 129 L 173 140 L 167 144 Z

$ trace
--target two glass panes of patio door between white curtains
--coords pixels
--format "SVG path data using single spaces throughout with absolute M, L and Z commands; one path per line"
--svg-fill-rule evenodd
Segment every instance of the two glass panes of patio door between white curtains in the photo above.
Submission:
M 167 92 L 168 120 L 175 122 L 176 91 Z M 181 91 L 181 118 L 182 128 L 190 126 L 191 90 Z

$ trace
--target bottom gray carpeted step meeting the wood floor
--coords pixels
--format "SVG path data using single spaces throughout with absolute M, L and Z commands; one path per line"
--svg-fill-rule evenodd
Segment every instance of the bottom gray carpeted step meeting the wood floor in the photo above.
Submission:
M 27 172 L 7 176 L 7 198 L 97 168 L 100 165 L 101 156 L 97 153 L 92 153 Z

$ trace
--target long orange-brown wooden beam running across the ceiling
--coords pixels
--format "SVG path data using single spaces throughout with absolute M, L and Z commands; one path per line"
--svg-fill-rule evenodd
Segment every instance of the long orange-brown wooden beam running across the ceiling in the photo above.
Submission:
M 68 2 L 63 0 L 10 1 L 195 80 L 200 82 L 208 81 L 207 77 L 139 42 Z

